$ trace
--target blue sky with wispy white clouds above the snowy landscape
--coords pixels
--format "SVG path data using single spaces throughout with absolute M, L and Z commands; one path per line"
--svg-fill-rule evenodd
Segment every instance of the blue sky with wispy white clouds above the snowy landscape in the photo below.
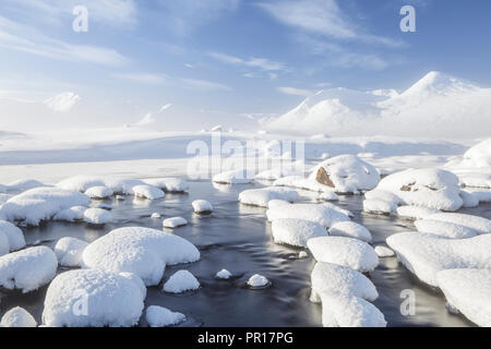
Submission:
M 489 0 L 0 3 L 4 130 L 247 128 L 319 89 L 403 91 L 433 70 L 491 87 Z M 416 33 L 399 28 L 407 4 Z

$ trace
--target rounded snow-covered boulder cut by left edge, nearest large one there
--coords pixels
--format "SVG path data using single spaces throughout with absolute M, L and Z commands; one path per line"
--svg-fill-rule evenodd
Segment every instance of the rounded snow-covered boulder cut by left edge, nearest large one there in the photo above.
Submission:
M 36 246 L 0 257 L 0 286 L 23 293 L 49 284 L 57 273 L 58 260 L 51 249 Z

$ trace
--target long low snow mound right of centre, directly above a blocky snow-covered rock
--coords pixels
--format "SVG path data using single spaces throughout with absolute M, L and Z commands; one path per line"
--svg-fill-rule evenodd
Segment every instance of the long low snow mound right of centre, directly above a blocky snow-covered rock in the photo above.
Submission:
M 331 228 L 337 222 L 349 221 L 348 215 L 339 207 L 330 203 L 324 204 L 294 204 L 271 208 L 266 212 L 267 220 L 274 221 L 282 218 L 297 218 L 311 220 L 325 228 Z

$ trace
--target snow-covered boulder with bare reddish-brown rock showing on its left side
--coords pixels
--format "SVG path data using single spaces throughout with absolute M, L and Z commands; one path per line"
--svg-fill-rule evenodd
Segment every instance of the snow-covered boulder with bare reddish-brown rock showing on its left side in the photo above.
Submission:
M 334 188 L 337 193 L 372 190 L 380 181 L 379 171 L 355 155 L 342 155 L 314 167 L 310 179 Z

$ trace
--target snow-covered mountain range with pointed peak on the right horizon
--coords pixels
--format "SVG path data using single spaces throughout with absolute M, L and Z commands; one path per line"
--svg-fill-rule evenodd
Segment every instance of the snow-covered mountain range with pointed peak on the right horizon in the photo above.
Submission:
M 302 134 L 474 137 L 491 132 L 491 89 L 430 72 L 403 93 L 331 88 L 273 120 Z

